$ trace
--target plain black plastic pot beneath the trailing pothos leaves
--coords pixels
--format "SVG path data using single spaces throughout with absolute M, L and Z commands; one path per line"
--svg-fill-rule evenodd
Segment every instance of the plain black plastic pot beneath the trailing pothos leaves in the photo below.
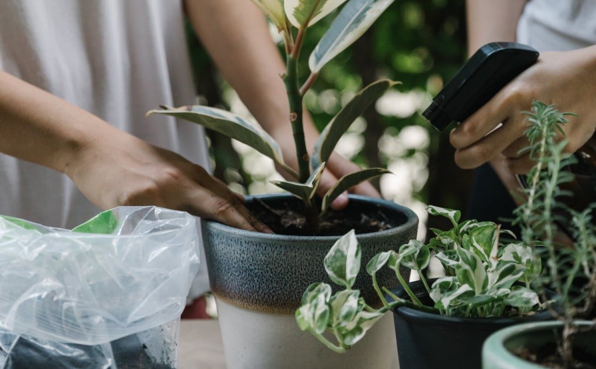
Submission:
M 421 281 L 409 287 L 424 305 L 433 305 Z M 409 299 L 402 287 L 393 293 Z M 398 307 L 393 314 L 399 366 L 404 369 L 480 368 L 482 343 L 492 333 L 514 324 L 551 319 L 546 310 L 523 318 L 454 318 L 409 307 Z

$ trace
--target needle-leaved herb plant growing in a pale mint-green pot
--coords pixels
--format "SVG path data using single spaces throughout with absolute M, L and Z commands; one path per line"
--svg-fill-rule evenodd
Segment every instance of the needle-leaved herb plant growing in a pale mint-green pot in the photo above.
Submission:
M 596 368 L 596 204 L 585 210 L 565 205 L 563 190 L 573 181 L 569 165 L 575 158 L 564 154 L 566 140 L 558 132 L 566 115 L 554 106 L 533 103 L 527 112 L 530 155 L 535 160 L 527 175 L 527 201 L 516 210 L 525 245 L 535 247 L 546 261 L 536 279 L 539 288 L 557 294 L 554 322 L 522 324 L 498 331 L 486 340 L 486 368 Z M 566 225 L 571 240 L 557 236 Z M 563 223 L 564 222 L 564 223 Z M 561 242 L 563 240 L 563 242 Z

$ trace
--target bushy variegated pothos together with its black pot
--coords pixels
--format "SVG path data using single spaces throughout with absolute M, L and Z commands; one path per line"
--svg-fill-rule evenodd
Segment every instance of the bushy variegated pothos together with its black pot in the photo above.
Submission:
M 300 329 L 336 352 L 349 352 L 377 319 L 393 310 L 402 368 L 479 368 L 482 342 L 491 333 L 550 318 L 547 310 L 538 311 L 544 301 L 531 287 L 541 270 L 532 248 L 522 242 L 501 242 L 502 233 L 512 234 L 495 223 L 460 223 L 460 211 L 434 206 L 427 210 L 447 217 L 453 227 L 434 229 L 436 237 L 427 245 L 414 239 L 398 251 L 378 253 L 366 266 L 383 306 L 368 305 L 354 287 L 361 251 L 349 232 L 324 259 L 330 279 L 343 290 L 333 294 L 327 283 L 309 286 L 295 313 Z M 423 270 L 432 251 L 446 276 L 429 281 Z M 417 272 L 420 281 L 406 283 L 400 267 Z M 384 268 L 395 272 L 401 287 L 390 290 L 378 282 Z

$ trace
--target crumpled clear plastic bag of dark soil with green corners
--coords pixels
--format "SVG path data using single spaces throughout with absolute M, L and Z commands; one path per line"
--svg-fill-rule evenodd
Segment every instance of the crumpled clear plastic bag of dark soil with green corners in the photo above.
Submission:
M 174 367 L 198 242 L 194 217 L 156 207 L 72 231 L 0 217 L 0 368 L 37 367 L 27 352 L 57 359 L 48 368 Z

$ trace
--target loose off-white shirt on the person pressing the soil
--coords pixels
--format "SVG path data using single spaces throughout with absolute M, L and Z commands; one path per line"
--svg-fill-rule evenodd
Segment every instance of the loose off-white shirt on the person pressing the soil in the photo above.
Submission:
M 172 0 L 1 0 L 0 69 L 208 168 L 201 127 L 145 118 L 194 103 L 183 19 Z M 0 214 L 70 228 L 98 212 L 64 174 L 0 154 Z

